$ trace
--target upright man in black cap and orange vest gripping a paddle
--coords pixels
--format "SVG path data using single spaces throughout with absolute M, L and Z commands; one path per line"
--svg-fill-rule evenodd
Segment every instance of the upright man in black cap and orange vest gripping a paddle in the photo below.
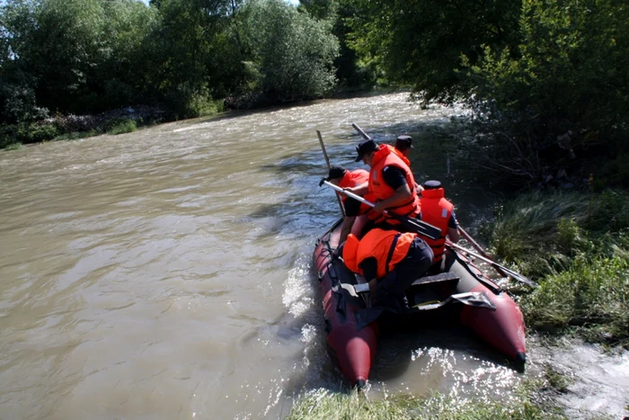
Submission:
M 362 141 L 356 151 L 356 162 L 362 160 L 371 167 L 369 181 L 347 190 L 363 196 L 368 194 L 375 201 L 376 205 L 368 212 L 372 224 L 402 229 L 398 220 L 389 219 L 382 212 L 387 210 L 410 217 L 420 213 L 420 200 L 411 168 L 401 157 L 391 152 L 390 147 L 379 146 L 374 140 Z

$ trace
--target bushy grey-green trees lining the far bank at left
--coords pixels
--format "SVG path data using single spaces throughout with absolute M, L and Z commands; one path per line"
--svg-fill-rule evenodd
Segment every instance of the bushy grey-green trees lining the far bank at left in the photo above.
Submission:
M 52 139 L 60 128 L 40 121 L 57 113 L 139 103 L 185 118 L 221 111 L 225 98 L 321 97 L 336 83 L 332 24 L 280 0 L 9 0 L 0 147 Z

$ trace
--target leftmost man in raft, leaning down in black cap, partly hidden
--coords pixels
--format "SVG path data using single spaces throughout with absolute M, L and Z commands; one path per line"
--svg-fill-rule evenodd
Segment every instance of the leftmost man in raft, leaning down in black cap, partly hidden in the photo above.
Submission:
M 342 166 L 332 166 L 327 178 L 323 178 L 319 183 L 319 186 L 323 185 L 323 181 L 333 183 L 341 188 L 355 187 L 361 183 L 367 183 L 369 180 L 369 173 L 364 169 L 356 169 L 354 171 L 348 171 Z M 365 214 L 369 210 L 367 204 L 363 204 L 358 200 L 354 200 L 346 195 L 341 194 L 341 202 L 343 203 L 343 210 L 345 210 L 345 217 L 343 218 L 343 224 L 341 226 L 341 237 L 339 237 L 339 244 L 342 244 L 347 236 L 351 232 L 351 226 L 354 224 L 354 220 L 360 214 Z

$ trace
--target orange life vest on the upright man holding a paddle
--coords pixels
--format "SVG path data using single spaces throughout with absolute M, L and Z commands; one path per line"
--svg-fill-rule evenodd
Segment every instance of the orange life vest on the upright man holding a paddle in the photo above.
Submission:
M 400 216 L 416 216 L 420 213 L 420 199 L 417 196 L 417 191 L 415 190 L 415 178 L 412 176 L 411 168 L 409 168 L 409 166 L 406 165 L 399 156 L 397 156 L 395 153 L 391 153 L 391 149 L 389 147 L 380 147 L 374 154 L 371 171 L 369 172 L 370 197 L 372 197 L 376 201 L 386 200 L 394 194 L 395 190 L 388 186 L 383 179 L 382 170 L 386 166 L 396 166 L 402 169 L 404 172 L 404 177 L 406 178 L 406 183 L 411 190 L 411 198 L 409 199 L 409 201 L 399 206 L 389 207 L 386 210 Z M 384 213 L 379 214 L 375 211 L 369 213 L 368 218 L 374 219 L 376 220 L 376 222 L 387 219 L 387 222 L 390 224 L 399 223 L 398 220 L 388 219 L 386 218 Z

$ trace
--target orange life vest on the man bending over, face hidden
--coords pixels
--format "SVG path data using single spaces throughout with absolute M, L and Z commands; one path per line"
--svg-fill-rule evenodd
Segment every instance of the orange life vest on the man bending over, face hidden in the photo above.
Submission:
M 379 228 L 369 230 L 360 240 L 350 234 L 343 246 L 343 261 L 352 272 L 363 274 L 360 263 L 374 257 L 377 260 L 377 278 L 382 279 L 406 257 L 415 237 L 415 233 Z

